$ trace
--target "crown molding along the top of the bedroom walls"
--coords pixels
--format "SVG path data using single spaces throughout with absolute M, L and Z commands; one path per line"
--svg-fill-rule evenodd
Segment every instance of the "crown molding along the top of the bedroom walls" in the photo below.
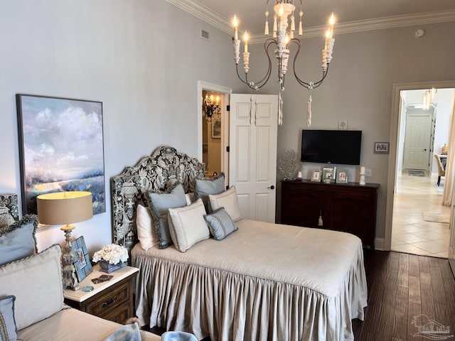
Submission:
M 190 13 L 206 23 L 220 29 L 221 31 L 232 34 L 232 23 L 229 19 L 223 18 L 220 14 L 212 11 L 196 0 L 166 0 L 179 9 Z M 373 18 L 348 23 L 337 23 L 336 34 L 356 33 L 363 31 L 382 30 L 385 28 L 397 28 L 405 26 L 425 25 L 429 23 L 446 23 L 455 21 L 455 10 L 437 11 L 428 13 L 407 14 L 403 16 L 390 16 L 386 18 Z M 305 38 L 323 37 L 326 26 L 314 26 L 304 28 Z M 263 43 L 265 40 L 262 34 L 251 36 L 249 43 Z

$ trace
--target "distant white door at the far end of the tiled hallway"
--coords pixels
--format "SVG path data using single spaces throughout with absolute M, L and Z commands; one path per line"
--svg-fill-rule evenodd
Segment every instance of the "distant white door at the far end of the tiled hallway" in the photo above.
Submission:
M 407 114 L 403 168 L 429 171 L 432 114 Z

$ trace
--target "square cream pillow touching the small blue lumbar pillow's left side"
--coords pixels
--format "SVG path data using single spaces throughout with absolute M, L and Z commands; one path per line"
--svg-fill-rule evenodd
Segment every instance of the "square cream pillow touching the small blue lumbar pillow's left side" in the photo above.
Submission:
M 200 199 L 189 206 L 169 208 L 169 233 L 178 251 L 185 252 L 194 244 L 210 237 L 204 215 L 205 207 Z

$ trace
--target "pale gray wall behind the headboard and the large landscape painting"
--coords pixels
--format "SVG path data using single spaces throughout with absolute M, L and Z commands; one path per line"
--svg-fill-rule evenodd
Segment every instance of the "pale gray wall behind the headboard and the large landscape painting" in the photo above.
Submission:
M 161 145 L 197 156 L 198 80 L 237 84 L 231 37 L 164 0 L 2 0 L 0 46 L 0 193 L 21 192 L 16 93 L 103 103 L 107 210 L 73 232 L 91 252 L 112 241 L 109 178 Z

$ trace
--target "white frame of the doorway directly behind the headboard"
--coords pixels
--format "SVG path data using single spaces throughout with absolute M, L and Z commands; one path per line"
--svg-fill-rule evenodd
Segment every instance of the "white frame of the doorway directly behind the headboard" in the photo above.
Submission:
M 225 173 L 225 178 L 228 178 L 229 171 L 229 154 L 226 152 L 226 147 L 229 145 L 229 112 L 226 107 L 229 104 L 230 94 L 232 89 L 230 87 L 223 87 L 223 85 L 216 85 L 203 80 L 198 80 L 198 160 L 202 160 L 202 92 L 203 90 L 218 92 L 223 94 L 224 107 L 221 109 L 221 171 Z

